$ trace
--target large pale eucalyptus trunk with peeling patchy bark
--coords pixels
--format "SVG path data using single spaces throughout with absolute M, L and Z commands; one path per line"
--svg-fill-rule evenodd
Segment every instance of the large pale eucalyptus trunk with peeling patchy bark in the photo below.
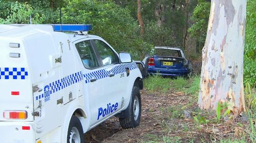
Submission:
M 246 0 L 211 0 L 208 30 L 202 50 L 199 106 L 215 110 L 228 103 L 238 115 L 245 111 L 243 54 Z

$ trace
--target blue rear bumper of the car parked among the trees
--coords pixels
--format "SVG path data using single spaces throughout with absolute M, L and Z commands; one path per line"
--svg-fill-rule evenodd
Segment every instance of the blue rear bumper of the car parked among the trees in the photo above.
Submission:
M 181 69 L 162 69 L 148 67 L 148 74 L 150 75 L 163 75 L 163 76 L 186 76 L 189 73 L 187 68 Z

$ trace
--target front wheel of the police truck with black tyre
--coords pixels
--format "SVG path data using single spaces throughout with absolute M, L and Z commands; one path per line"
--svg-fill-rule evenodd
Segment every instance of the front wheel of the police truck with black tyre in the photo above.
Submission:
M 129 108 L 130 107 L 130 108 Z M 123 129 L 135 128 L 140 124 L 141 116 L 141 97 L 138 87 L 133 87 L 132 100 L 129 105 L 130 117 L 119 118 L 119 122 Z

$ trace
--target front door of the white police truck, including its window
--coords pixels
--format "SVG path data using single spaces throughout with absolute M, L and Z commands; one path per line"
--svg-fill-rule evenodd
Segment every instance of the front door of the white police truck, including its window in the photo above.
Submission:
M 109 77 L 104 83 L 105 95 L 108 97 L 109 103 L 113 107 L 113 104 L 118 104 L 118 109 L 123 106 L 123 101 L 128 97 L 127 85 L 129 83 L 130 69 L 127 64 L 119 64 L 119 58 L 117 53 L 112 47 L 103 40 L 95 39 L 93 44 L 96 47 L 99 54 L 99 61 L 102 64 L 102 68 L 109 72 Z M 121 103 L 119 103 L 121 101 Z M 110 112 L 115 110 L 111 107 Z

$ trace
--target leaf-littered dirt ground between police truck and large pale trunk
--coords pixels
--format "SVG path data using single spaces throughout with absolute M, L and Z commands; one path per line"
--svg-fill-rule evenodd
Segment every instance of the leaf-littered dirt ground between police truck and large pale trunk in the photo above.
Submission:
M 85 134 L 86 142 L 218 142 L 220 138 L 238 137 L 245 133 L 245 126 L 237 122 L 195 125 L 193 118 L 184 117 L 181 107 L 189 106 L 191 116 L 197 110 L 196 101 L 191 104 L 190 95 L 175 92 L 142 90 L 142 114 L 140 125 L 135 129 L 122 129 L 118 118 L 111 118 Z M 189 105 L 188 105 L 189 104 Z M 173 109 L 172 107 L 177 107 Z M 180 109 L 179 109 L 180 108 Z M 175 112 L 176 111 L 176 112 Z M 190 112 L 188 111 L 188 112 Z M 215 118 L 207 114 L 207 118 Z M 212 116 L 212 117 L 211 117 Z M 179 138 L 179 141 L 163 141 L 164 136 Z M 159 140 L 160 138 L 160 140 Z

